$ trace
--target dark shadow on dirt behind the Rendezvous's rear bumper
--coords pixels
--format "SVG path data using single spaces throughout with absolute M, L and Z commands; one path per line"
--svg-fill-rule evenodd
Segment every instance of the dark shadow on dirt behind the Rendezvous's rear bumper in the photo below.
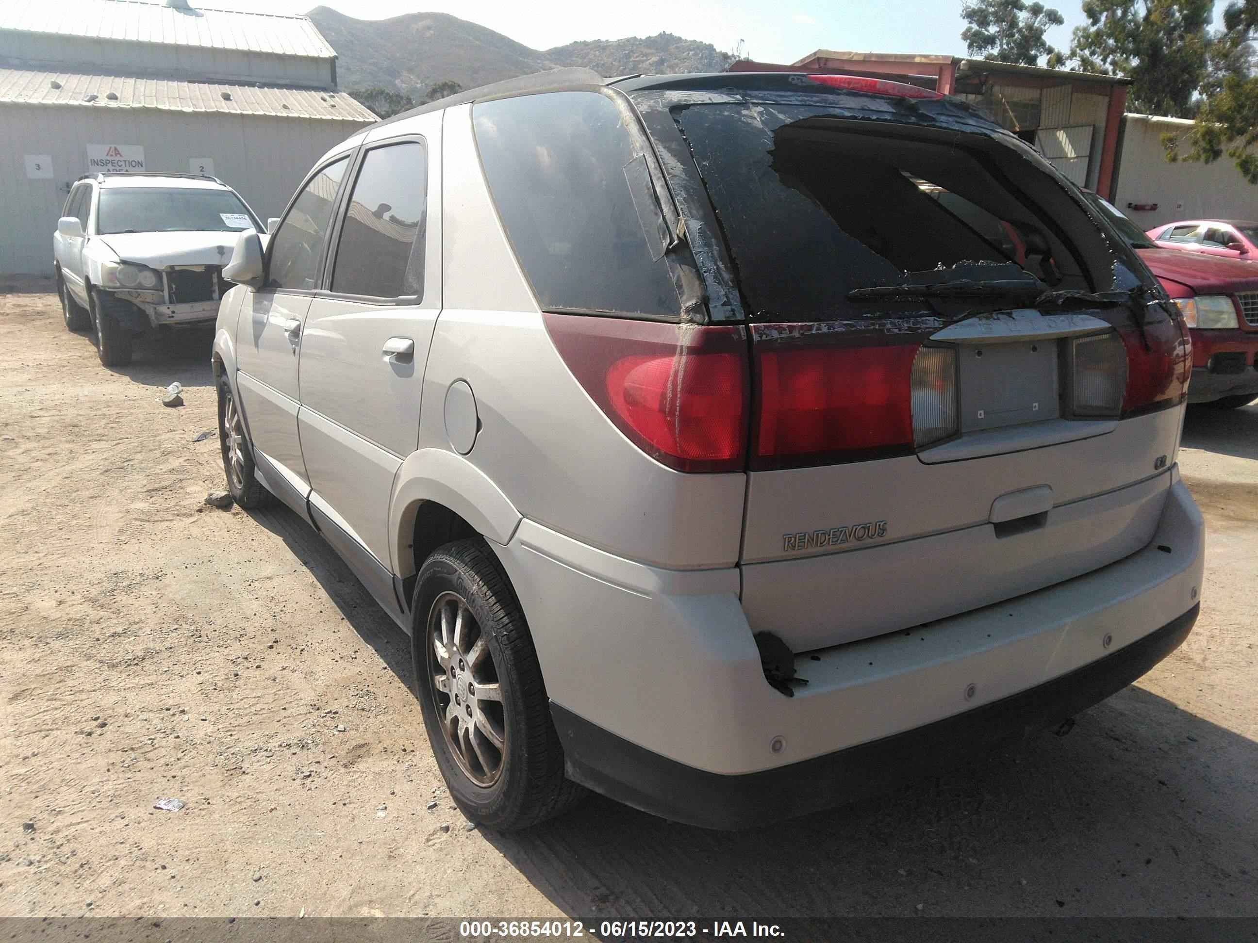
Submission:
M 760 830 L 591 797 L 486 837 L 571 917 L 1252 914 L 1255 768 L 1258 744 L 1133 687 L 1068 737 Z

